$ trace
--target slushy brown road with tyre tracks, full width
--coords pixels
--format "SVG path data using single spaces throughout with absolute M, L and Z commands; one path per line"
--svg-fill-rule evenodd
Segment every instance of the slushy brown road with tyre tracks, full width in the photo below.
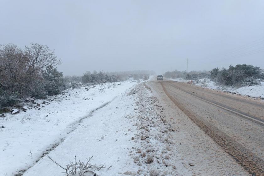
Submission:
M 264 175 L 263 101 L 175 81 L 148 85 L 178 129 L 179 153 L 197 163 L 194 170 L 201 175 L 205 170 L 208 175 L 247 175 L 246 170 Z

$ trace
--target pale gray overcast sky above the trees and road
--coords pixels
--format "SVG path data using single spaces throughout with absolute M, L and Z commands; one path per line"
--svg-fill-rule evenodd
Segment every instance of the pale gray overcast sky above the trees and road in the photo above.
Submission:
M 264 68 L 264 1 L 0 0 L 0 43 L 55 49 L 65 75 L 85 71 Z

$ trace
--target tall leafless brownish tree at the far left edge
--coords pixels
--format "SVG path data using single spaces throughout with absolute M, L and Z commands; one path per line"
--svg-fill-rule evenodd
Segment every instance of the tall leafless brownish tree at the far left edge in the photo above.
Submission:
M 17 93 L 20 97 L 45 85 L 42 71 L 60 64 L 54 50 L 45 45 L 31 43 L 21 50 L 14 44 L 0 48 L 0 88 L 6 95 Z M 40 85 L 39 83 L 43 83 Z M 38 86 L 38 87 L 36 87 Z

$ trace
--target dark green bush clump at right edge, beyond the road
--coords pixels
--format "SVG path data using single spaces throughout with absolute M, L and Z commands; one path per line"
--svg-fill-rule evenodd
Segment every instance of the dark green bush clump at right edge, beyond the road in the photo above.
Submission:
M 228 69 L 214 68 L 210 71 L 211 79 L 222 86 L 246 86 L 260 84 L 258 79 L 264 79 L 264 72 L 260 67 L 238 64 L 230 65 Z

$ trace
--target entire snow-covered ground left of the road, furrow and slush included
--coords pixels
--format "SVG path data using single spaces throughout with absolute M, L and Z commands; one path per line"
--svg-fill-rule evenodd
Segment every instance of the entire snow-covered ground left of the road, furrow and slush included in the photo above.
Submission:
M 174 175 L 174 129 L 150 88 L 135 81 L 89 88 L 0 118 L 0 175 L 63 176 L 75 156 L 93 156 L 84 175 Z

